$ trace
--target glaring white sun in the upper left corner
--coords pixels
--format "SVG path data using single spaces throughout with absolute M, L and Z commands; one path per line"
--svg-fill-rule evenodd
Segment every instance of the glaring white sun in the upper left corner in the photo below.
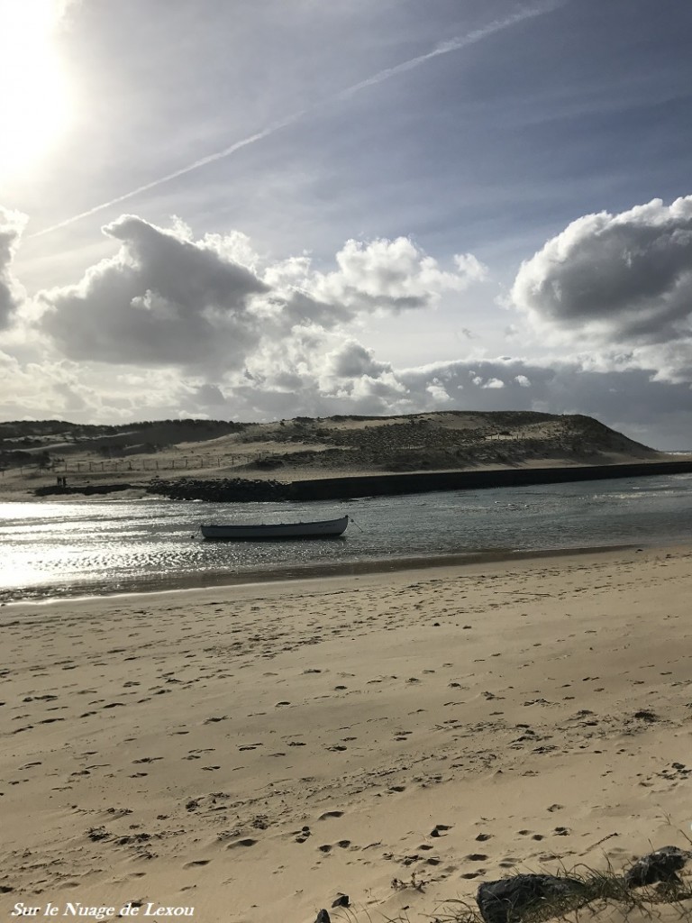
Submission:
M 55 43 L 66 0 L 0 0 L 0 181 L 27 174 L 69 123 Z

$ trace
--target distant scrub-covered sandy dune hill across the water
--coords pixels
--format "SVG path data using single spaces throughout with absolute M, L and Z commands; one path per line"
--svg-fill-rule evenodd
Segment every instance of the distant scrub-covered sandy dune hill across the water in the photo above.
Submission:
M 94 475 L 132 475 L 155 468 L 295 480 L 354 472 L 608 464 L 667 457 L 589 416 L 528 411 L 336 415 L 272 423 L 0 423 L 0 467 L 6 473 L 37 465 Z

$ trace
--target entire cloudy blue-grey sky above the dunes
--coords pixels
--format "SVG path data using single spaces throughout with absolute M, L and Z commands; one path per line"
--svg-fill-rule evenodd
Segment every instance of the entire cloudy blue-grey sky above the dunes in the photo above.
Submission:
M 692 5 L 0 0 L 0 420 L 692 448 Z

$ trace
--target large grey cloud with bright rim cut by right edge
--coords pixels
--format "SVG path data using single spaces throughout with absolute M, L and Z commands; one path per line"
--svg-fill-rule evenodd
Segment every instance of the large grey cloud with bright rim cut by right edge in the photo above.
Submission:
M 668 378 L 692 371 L 692 196 L 585 215 L 522 263 L 512 300 L 543 330 L 630 351 Z M 681 349 L 678 351 L 676 347 Z

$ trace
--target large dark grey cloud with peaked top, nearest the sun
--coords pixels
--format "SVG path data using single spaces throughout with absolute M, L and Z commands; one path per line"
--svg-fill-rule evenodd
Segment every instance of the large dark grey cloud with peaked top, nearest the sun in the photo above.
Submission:
M 66 356 L 139 366 L 242 366 L 260 338 L 248 308 L 268 286 L 210 244 L 133 216 L 108 225 L 117 256 L 42 293 L 42 330 Z

